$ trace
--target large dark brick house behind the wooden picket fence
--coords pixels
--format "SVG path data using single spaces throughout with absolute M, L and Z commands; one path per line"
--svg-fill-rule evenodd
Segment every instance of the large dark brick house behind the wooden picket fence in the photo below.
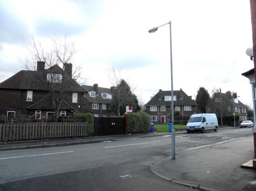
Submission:
M 45 69 L 45 62 L 38 61 L 36 71 L 21 70 L 0 83 L 0 116 L 14 118 L 22 112 L 35 115 L 38 119 L 53 117 L 53 99 L 38 78 L 42 75 L 46 83 L 50 83 L 51 79 L 52 87 L 56 91 L 60 91 L 61 83 L 58 82 L 62 79 L 69 83 L 69 86 L 63 89 L 59 116 L 71 115 L 72 110 L 82 112 L 82 98 L 87 91 L 71 78 L 72 64 L 64 64 L 63 71 L 58 65 Z

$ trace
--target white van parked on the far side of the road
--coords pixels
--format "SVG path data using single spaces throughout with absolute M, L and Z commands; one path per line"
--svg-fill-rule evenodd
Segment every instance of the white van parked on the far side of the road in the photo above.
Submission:
M 194 114 L 188 120 L 187 123 L 187 133 L 191 132 L 201 132 L 207 130 L 218 131 L 219 125 L 217 116 L 215 113 L 203 113 L 203 114 Z

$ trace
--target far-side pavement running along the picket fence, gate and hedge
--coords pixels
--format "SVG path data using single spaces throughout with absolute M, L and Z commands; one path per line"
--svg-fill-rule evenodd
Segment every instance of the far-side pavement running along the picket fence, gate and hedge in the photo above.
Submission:
M 240 128 L 240 127 L 236 127 Z M 234 127 L 219 127 L 218 130 L 236 129 Z M 207 131 L 206 131 L 207 132 Z M 185 134 L 186 130 L 175 131 L 175 134 Z M 0 151 L 5 150 L 18 150 L 18 149 L 34 149 L 34 148 L 45 148 L 45 147 L 61 147 L 67 145 L 76 144 L 90 144 L 98 143 L 103 141 L 121 141 L 127 139 L 138 139 L 147 137 L 157 137 L 163 135 L 171 135 L 171 132 L 154 132 L 154 133 L 144 133 L 144 134 L 127 134 L 118 136 L 108 136 L 108 137 L 84 137 L 84 138 L 61 138 L 61 139 L 46 139 L 46 140 L 32 140 L 32 141 L 15 141 L 0 143 Z

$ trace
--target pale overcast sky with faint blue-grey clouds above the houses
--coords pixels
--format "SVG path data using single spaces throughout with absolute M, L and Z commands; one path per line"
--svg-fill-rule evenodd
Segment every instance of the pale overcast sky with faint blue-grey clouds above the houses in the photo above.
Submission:
M 53 35 L 76 42 L 74 64 L 83 67 L 86 85 L 110 88 L 107 70 L 122 67 L 121 78 L 147 103 L 159 89 L 195 99 L 204 87 L 237 92 L 252 106 L 251 86 L 241 76 L 252 68 L 249 0 L 0 0 L 0 82 L 22 70 L 32 38 L 45 49 Z M 8 70 L 8 71 L 5 71 Z

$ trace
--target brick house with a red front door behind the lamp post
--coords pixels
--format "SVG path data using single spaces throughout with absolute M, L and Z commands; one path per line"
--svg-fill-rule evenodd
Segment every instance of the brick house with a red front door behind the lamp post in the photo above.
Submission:
M 173 91 L 173 97 L 174 111 L 179 111 L 182 115 L 202 113 L 196 108 L 197 104 L 192 100 L 192 96 L 187 96 L 182 89 Z M 151 116 L 153 123 L 166 123 L 168 114 L 171 114 L 171 91 L 160 89 L 145 107 L 145 112 Z

